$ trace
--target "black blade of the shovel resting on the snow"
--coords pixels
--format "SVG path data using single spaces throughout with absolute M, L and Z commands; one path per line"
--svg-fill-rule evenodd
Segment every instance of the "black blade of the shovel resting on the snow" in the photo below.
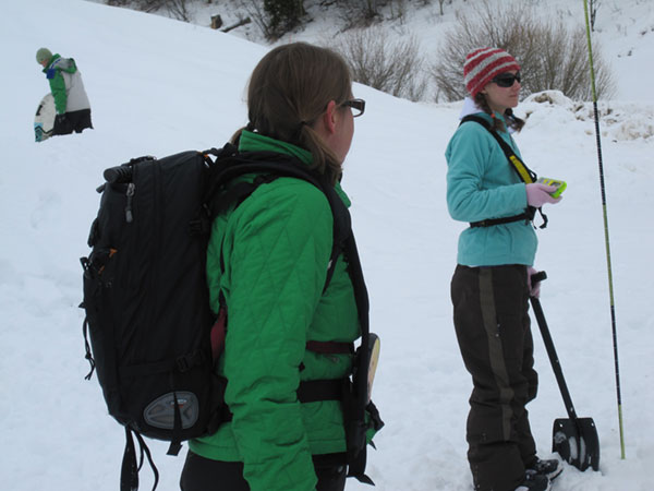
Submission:
M 600 439 L 592 418 L 556 419 L 552 430 L 552 451 L 579 470 L 600 469 Z

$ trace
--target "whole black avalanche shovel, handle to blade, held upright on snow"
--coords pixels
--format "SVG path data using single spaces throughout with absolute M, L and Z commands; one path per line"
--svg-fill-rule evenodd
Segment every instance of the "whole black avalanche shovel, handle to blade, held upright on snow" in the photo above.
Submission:
M 547 278 L 547 275 L 544 271 L 536 273 L 532 276 L 532 284 L 536 284 L 545 278 Z M 541 301 L 535 297 L 531 297 L 530 300 L 569 416 L 569 418 L 559 418 L 554 421 L 552 451 L 557 452 L 564 460 L 579 470 L 585 470 L 589 466 L 593 470 L 598 470 L 600 439 L 597 438 L 595 422 L 592 418 L 577 417 L 566 380 L 564 379 L 564 371 L 554 348 L 554 342 L 545 322 Z

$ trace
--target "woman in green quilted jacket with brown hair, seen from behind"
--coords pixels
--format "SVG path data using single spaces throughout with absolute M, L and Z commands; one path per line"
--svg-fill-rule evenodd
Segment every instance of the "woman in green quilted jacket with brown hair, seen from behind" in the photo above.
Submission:
M 252 73 L 247 106 L 250 122 L 232 139 L 240 152 L 295 157 L 350 204 L 339 181 L 364 101 L 353 99 L 341 57 L 303 43 L 271 50 Z M 293 178 L 258 185 L 214 220 L 207 277 L 215 312 L 221 298 L 228 306 L 217 370 L 232 419 L 191 441 L 183 491 L 344 489 L 340 402 L 298 400 L 301 382 L 352 369 L 347 350 L 317 352 L 307 343 L 351 346 L 361 335 L 342 254 L 323 291 L 332 232 L 325 194 Z

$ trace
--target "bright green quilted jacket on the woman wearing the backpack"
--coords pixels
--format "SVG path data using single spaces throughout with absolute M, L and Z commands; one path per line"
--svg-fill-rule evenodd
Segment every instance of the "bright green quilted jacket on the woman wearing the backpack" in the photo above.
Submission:
M 274 151 L 311 163 L 308 152 L 247 131 L 240 149 Z M 336 189 L 349 206 L 340 184 Z M 225 399 L 233 419 L 190 447 L 206 458 L 243 462 L 252 491 L 314 490 L 312 455 L 346 451 L 340 403 L 300 404 L 296 397 L 300 381 L 341 379 L 352 367 L 350 355 L 307 351 L 307 340 L 349 343 L 360 336 L 342 256 L 323 292 L 331 243 L 327 199 L 313 184 L 292 178 L 259 185 L 213 224 L 207 276 L 213 309 L 219 309 L 220 290 L 228 304 L 218 371 L 228 380 Z

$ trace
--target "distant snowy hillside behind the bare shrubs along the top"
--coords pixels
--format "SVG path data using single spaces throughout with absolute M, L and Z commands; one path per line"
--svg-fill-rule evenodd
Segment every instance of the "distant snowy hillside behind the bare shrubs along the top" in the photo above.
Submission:
M 105 0 L 88 1 L 105 3 Z M 531 9 L 535 16 L 544 21 L 560 21 L 569 28 L 581 28 L 585 32 L 584 0 L 484 0 L 484 2 L 487 2 L 492 9 L 502 9 L 505 12 L 507 10 L 511 12 L 512 4 L 520 9 Z M 232 26 L 243 17 L 256 19 L 252 15 L 251 3 L 254 2 L 187 0 L 189 21 L 195 25 L 209 27 L 211 16 L 220 15 L 223 26 Z M 585 0 L 585 3 L 591 2 Z M 643 67 L 651 63 L 654 57 L 654 2 L 602 0 L 594 3 L 597 5 L 593 34 L 594 56 L 595 58 L 602 56 L 606 64 L 613 68 L 617 82 L 614 98 L 654 101 L 651 79 L 640 76 Z M 414 37 L 420 44 L 420 53 L 425 60 L 423 67 L 425 72 L 437 60 L 438 46 L 445 39 L 445 35 L 458 27 L 457 15 L 476 15 L 479 9 L 484 11 L 483 2 L 479 0 L 448 0 L 447 2 L 392 0 L 377 2 L 377 4 L 384 5 L 378 9 L 379 14 L 375 19 L 374 26 L 382 26 L 384 38 L 388 44 L 405 39 L 408 36 Z M 304 24 L 287 33 L 277 44 L 308 40 L 329 45 L 330 39 L 339 36 L 353 22 L 353 14 L 348 14 L 344 8 L 338 9 L 335 2 L 304 0 L 304 8 L 306 10 Z M 168 9 L 160 9 L 154 13 L 171 15 Z M 266 44 L 256 22 L 234 28 L 230 31 L 230 35 L 262 45 Z M 585 44 L 581 48 L 585 49 Z M 429 100 L 435 93 L 435 87 L 431 86 L 425 99 Z

